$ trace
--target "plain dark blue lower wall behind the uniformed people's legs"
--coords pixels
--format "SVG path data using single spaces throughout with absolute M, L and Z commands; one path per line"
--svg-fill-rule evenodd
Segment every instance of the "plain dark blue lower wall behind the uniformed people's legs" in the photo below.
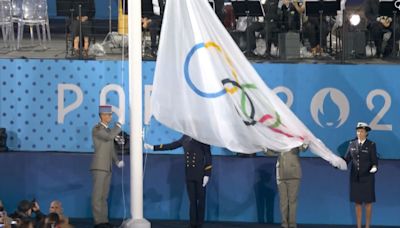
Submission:
M 214 149 L 214 148 L 213 148 Z M 129 159 L 113 170 L 110 216 L 129 217 Z M 149 219 L 188 219 L 188 197 L 182 155 L 145 157 L 144 215 Z M 62 201 L 66 215 L 91 218 L 90 154 L 0 153 L 0 199 L 8 211 L 21 199 L 36 198 L 44 212 L 54 199 Z M 213 156 L 207 186 L 206 219 L 279 223 L 279 199 L 273 157 L 239 158 Z M 298 222 L 306 224 L 354 224 L 354 205 L 349 202 L 349 173 L 319 158 L 301 160 L 303 178 L 299 193 Z M 372 222 L 400 226 L 399 161 L 381 160 L 376 174 L 376 198 Z M 122 181 L 123 180 L 123 181 Z M 388 187 L 390 186 L 390 187 Z

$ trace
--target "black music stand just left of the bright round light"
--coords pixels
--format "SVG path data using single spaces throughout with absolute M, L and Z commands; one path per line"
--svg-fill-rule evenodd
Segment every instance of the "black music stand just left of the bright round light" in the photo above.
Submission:
M 322 46 L 322 19 L 324 16 L 336 16 L 340 10 L 340 0 L 307 0 L 307 16 L 319 16 L 319 45 Z M 332 43 L 332 41 L 331 41 Z

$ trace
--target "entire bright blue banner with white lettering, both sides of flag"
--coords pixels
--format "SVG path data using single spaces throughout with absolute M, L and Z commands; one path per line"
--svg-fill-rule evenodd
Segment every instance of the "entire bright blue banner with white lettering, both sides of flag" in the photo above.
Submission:
M 266 84 L 276 89 L 293 112 L 335 153 L 345 153 L 347 140 L 355 136 L 356 123 L 364 121 L 374 129 L 370 138 L 377 142 L 380 157 L 400 158 L 396 149 L 400 147 L 400 83 L 396 79 L 400 66 L 254 66 Z M 154 67 L 154 62 L 143 63 L 146 89 L 152 84 Z M 126 69 L 127 63 L 120 61 L 0 60 L 0 126 L 8 130 L 9 147 L 92 151 L 91 128 L 98 121 L 101 93 L 108 88 L 119 89 L 122 95 L 111 90 L 104 102 L 117 108 L 124 106 L 121 116 L 126 118 L 125 126 L 129 126 Z M 66 85 L 75 90 L 68 90 Z M 66 110 L 78 99 L 77 91 L 82 93 L 82 103 L 65 114 L 64 122 L 59 122 L 60 110 Z M 149 100 L 148 94 L 144 92 L 145 101 Z M 125 101 L 120 101 L 123 95 Z M 146 104 L 145 111 L 149 108 Z M 180 135 L 153 119 L 146 125 L 145 137 L 147 142 L 158 144 L 176 140 Z M 231 154 L 219 148 L 214 153 Z M 312 154 L 307 152 L 304 156 Z

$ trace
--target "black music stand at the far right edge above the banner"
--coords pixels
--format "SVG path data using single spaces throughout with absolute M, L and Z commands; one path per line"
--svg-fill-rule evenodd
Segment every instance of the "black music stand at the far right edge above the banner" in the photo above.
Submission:
M 393 0 L 380 0 L 379 1 L 379 15 L 380 16 L 388 16 L 388 17 L 393 16 L 392 57 L 396 57 L 396 28 L 397 28 L 397 13 L 398 12 L 400 12 L 400 2 L 393 1 Z

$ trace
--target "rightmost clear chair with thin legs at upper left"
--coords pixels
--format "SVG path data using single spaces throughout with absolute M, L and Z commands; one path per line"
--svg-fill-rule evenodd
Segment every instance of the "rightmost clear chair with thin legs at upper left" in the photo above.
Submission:
M 14 21 L 18 23 L 17 49 L 21 47 L 24 26 L 29 26 L 31 44 L 33 46 L 33 28 L 36 27 L 38 40 L 46 48 L 46 36 L 50 37 L 48 29 L 48 13 L 46 0 L 14 0 Z M 47 31 L 46 31 L 47 30 Z

